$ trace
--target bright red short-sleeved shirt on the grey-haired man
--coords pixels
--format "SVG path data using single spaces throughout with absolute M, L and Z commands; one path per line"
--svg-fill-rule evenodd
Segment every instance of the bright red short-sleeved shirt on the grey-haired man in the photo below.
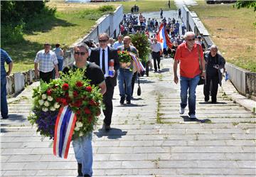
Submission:
M 203 49 L 201 45 L 195 43 L 191 51 L 188 50 L 186 43 L 178 45 L 174 59 L 180 60 L 180 74 L 182 77 L 193 78 L 201 73 L 197 46 L 199 48 L 201 60 L 203 60 Z

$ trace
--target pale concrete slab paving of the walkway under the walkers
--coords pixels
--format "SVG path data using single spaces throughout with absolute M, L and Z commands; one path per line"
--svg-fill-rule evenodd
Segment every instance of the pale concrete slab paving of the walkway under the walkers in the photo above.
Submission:
M 173 61 L 161 60 L 161 73 L 141 78 L 142 95 L 119 105 L 114 90 L 112 130 L 93 132 L 94 176 L 255 176 L 255 115 L 223 92 L 218 104 L 203 101 L 197 88 L 196 114 L 178 114 L 179 85 Z M 77 176 L 73 147 L 68 159 L 53 156 L 53 143 L 27 121 L 32 88 L 9 100 L 10 119 L 1 119 L 1 176 Z M 137 85 L 134 91 L 136 93 Z M 255 102 L 254 102 L 255 104 Z

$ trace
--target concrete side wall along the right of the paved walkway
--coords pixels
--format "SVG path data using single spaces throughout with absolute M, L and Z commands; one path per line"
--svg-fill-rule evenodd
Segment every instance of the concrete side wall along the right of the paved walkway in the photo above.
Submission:
M 181 14 L 187 31 L 193 31 L 196 35 L 203 36 L 203 43 L 206 44 L 207 48 L 214 44 L 207 29 L 203 26 L 203 23 L 198 18 L 196 12 L 189 11 L 186 6 L 183 6 Z M 238 92 L 256 100 L 256 73 L 244 70 L 230 63 L 226 63 L 225 68 L 230 75 L 230 81 Z

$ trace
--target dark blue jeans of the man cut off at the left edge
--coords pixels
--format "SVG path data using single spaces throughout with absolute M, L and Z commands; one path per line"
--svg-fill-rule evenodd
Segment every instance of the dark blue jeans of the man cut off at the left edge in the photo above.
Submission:
M 8 105 L 7 105 L 7 90 L 6 90 L 6 75 L 1 75 L 1 117 L 8 117 Z

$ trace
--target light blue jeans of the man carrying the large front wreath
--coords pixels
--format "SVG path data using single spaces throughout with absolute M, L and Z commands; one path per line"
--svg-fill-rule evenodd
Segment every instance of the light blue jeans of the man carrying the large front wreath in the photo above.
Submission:
M 75 159 L 82 163 L 82 174 L 92 176 L 92 133 L 73 139 Z

